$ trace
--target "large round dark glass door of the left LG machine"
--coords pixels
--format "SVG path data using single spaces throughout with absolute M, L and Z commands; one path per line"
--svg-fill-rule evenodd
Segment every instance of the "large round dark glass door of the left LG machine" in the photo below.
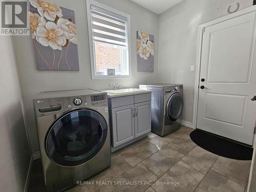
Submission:
M 104 118 L 92 110 L 77 110 L 61 116 L 46 138 L 48 156 L 62 166 L 89 161 L 102 148 L 107 126 Z

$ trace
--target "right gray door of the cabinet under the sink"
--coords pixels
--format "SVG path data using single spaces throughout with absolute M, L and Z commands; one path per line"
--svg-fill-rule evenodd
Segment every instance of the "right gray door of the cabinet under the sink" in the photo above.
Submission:
M 137 103 L 135 106 L 135 138 L 151 132 L 151 101 Z

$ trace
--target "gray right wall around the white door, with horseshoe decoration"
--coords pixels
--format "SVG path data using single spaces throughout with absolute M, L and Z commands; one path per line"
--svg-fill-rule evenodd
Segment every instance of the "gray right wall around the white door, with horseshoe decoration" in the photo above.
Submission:
M 196 65 L 198 25 L 228 14 L 228 5 L 236 2 L 240 10 L 252 5 L 252 0 L 184 0 L 159 15 L 158 80 L 184 84 L 184 121 L 193 118 L 195 72 L 190 66 Z

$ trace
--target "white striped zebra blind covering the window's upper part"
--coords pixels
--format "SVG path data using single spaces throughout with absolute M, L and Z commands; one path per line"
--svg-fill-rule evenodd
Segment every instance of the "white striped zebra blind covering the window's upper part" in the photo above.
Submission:
M 127 46 L 127 17 L 91 5 L 93 41 Z

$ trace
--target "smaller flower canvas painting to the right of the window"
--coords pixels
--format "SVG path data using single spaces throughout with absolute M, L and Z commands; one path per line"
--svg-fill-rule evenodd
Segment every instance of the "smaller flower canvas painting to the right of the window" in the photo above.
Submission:
M 137 31 L 137 71 L 154 72 L 154 36 Z

